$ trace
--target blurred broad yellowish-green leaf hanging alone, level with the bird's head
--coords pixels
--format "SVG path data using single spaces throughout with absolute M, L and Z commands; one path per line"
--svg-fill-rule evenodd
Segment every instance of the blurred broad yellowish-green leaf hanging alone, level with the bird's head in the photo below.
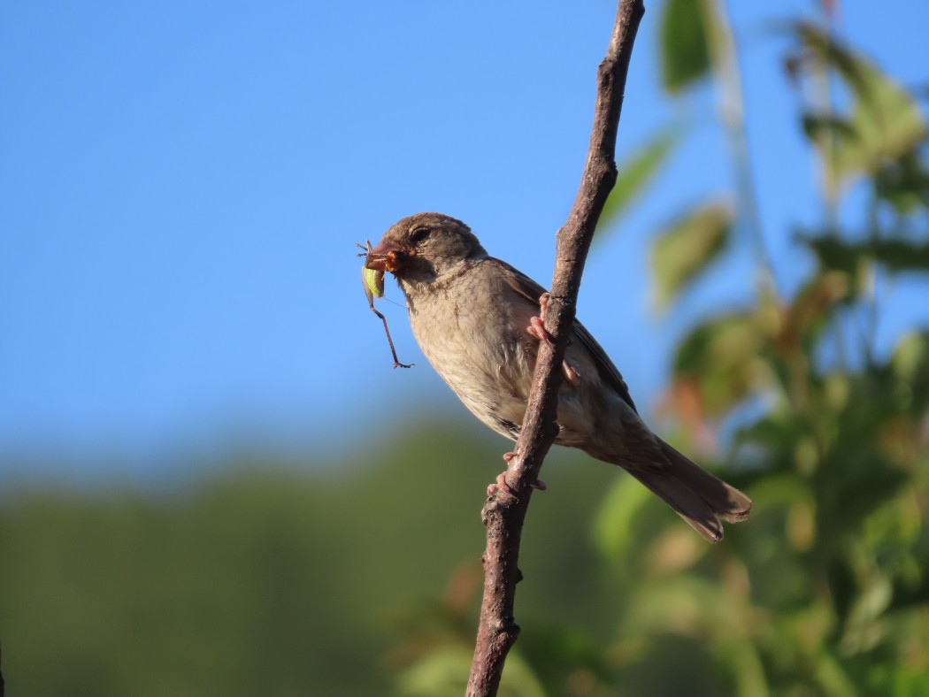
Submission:
M 652 246 L 656 299 L 665 309 L 725 247 L 732 210 L 725 204 L 703 205 L 664 230 Z

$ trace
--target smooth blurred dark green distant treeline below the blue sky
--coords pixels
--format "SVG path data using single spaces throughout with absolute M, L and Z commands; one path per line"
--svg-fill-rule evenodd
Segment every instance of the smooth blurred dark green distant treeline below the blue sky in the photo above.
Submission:
M 0 642 L 9 693 L 389 693 L 417 637 L 472 632 L 480 492 L 506 448 L 478 426 L 413 421 L 346 462 L 254 458 L 160 493 L 7 490 Z M 560 494 L 533 506 L 525 569 L 536 580 L 520 602 L 532 635 L 568 623 L 605 642 L 585 526 L 615 472 L 572 478 L 574 457 L 549 463 Z M 465 674 L 468 664 L 470 655 Z M 404 677 L 411 690 L 416 682 Z

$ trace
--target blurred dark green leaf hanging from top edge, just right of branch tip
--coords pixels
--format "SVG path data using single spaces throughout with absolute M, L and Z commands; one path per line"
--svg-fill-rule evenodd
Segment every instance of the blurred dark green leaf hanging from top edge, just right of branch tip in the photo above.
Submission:
M 661 82 L 676 94 L 710 72 L 706 8 L 702 0 L 667 0 L 661 15 Z

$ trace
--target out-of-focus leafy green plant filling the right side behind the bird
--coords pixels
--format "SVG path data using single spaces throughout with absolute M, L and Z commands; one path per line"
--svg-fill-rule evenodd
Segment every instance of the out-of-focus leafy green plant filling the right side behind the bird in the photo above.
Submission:
M 756 507 L 710 547 L 635 481 L 617 481 L 594 522 L 618 598 L 603 597 L 614 640 L 524 626 L 505 694 L 929 694 L 929 330 L 877 345 L 896 277 L 929 282 L 927 131 L 908 91 L 831 31 L 833 9 L 779 27 L 824 217 L 794 233 L 815 263 L 785 294 L 754 202 L 725 6 L 663 7 L 662 83 L 675 96 L 712 82 L 736 191 L 656 233 L 655 295 L 674 305 L 739 239 L 757 282 L 751 301 L 690 328 L 665 412 L 686 452 L 728 450 L 719 468 Z M 629 158 L 601 226 L 681 139 L 662 130 Z M 469 638 L 420 637 L 400 692 L 461 693 L 455 651 Z

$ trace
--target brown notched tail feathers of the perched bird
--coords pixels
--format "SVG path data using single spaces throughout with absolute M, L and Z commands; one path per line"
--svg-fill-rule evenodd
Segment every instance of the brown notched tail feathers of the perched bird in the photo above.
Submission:
M 725 481 L 714 477 L 666 442 L 661 443 L 670 467 L 628 470 L 635 479 L 674 508 L 674 511 L 710 542 L 723 539 L 723 525 L 748 518 L 752 499 Z

